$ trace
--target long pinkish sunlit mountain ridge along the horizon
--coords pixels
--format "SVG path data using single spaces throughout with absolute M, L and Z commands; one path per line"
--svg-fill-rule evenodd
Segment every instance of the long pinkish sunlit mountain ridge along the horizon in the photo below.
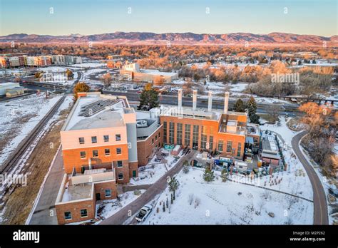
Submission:
M 68 36 L 50 36 L 26 33 L 14 33 L 0 36 L 0 42 L 24 43 L 113 43 L 113 44 L 180 44 L 180 45 L 238 45 L 238 46 L 337 46 L 338 36 L 324 37 L 299 35 L 292 33 L 147 33 L 147 32 L 115 32 L 93 35 L 71 34 Z

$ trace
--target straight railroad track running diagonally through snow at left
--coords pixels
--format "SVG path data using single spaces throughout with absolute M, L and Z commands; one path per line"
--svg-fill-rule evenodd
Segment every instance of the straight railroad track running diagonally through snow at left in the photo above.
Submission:
M 16 150 L 11 154 L 11 156 L 9 156 L 9 158 L 1 166 L 0 174 L 4 175 L 6 172 L 9 172 L 11 168 L 14 167 L 19 162 L 22 155 L 26 153 L 26 150 L 28 150 L 29 146 L 34 142 L 36 136 L 39 135 L 41 130 L 48 123 L 48 120 L 50 120 L 53 117 L 53 115 L 56 113 L 58 108 L 60 108 L 65 98 L 66 98 L 66 95 L 63 95 L 56 102 L 56 104 L 53 105 L 53 108 L 51 108 L 51 110 L 49 110 L 48 113 L 39 121 L 39 123 L 34 127 L 34 129 L 31 130 L 31 133 L 29 133 L 29 135 L 27 135 L 27 137 L 21 141 L 21 143 L 16 148 Z

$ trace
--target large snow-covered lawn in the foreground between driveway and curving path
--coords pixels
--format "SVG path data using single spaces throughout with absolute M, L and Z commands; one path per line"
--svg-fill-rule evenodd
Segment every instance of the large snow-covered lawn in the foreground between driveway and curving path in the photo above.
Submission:
M 203 170 L 195 168 L 190 168 L 188 174 L 181 171 L 176 178 L 180 186 L 173 204 L 167 188 L 143 224 L 312 224 L 312 202 L 237 182 L 222 182 L 220 177 L 208 183 L 203 180 Z M 163 212 L 167 198 L 169 207 Z

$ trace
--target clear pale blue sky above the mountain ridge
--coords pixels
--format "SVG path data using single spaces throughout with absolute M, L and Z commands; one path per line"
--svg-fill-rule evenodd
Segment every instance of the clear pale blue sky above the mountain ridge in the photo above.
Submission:
M 337 35 L 337 0 L 0 0 L 0 36 L 153 33 Z

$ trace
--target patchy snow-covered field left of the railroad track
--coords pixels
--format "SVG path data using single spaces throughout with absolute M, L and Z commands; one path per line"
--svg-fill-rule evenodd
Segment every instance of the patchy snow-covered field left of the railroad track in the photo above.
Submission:
M 45 95 L 28 95 L 10 102 L 0 103 L 0 164 L 48 113 L 61 95 L 46 99 Z M 9 140 L 6 137 L 9 135 Z

